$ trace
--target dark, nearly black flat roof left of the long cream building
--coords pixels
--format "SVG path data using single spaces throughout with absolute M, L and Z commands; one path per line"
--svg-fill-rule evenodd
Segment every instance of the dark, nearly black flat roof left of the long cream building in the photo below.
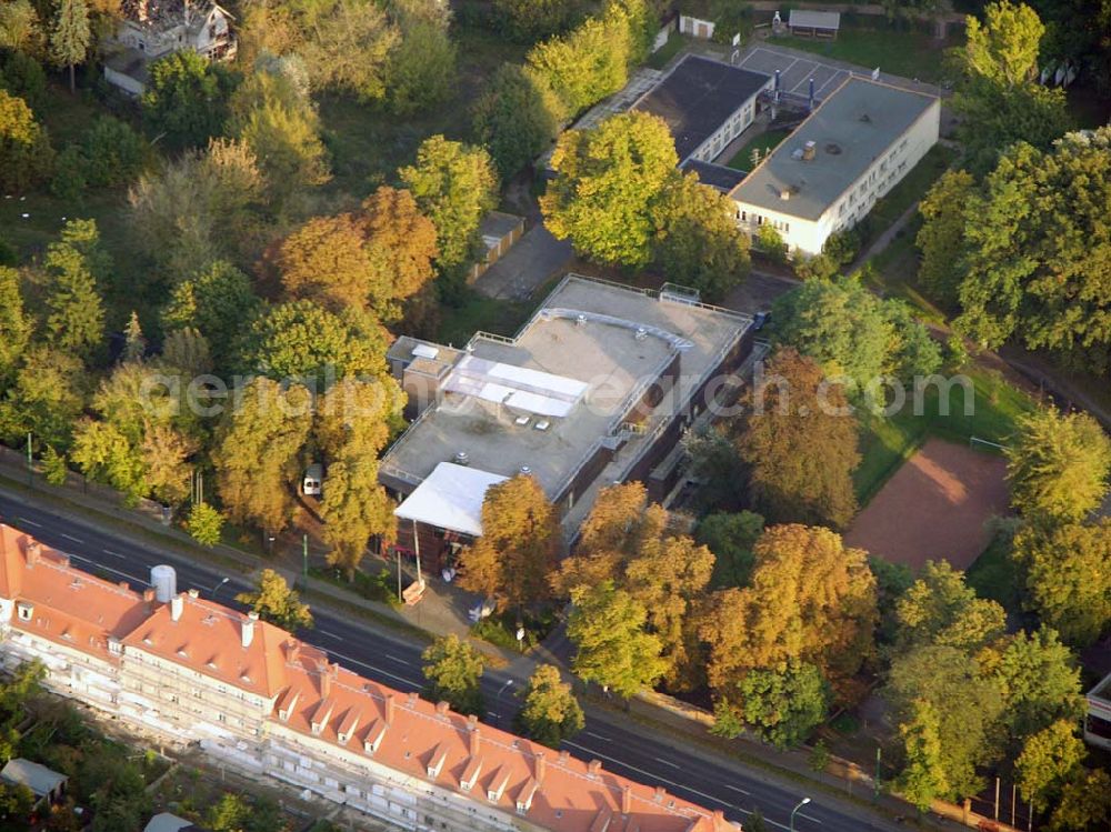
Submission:
M 668 122 L 681 162 L 770 80 L 763 72 L 689 54 L 634 109 Z

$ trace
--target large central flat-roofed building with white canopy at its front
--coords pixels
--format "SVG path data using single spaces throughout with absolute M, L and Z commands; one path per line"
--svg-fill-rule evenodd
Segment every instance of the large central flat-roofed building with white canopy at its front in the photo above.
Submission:
M 573 528 L 595 481 L 641 479 L 652 490 L 652 468 L 704 408 L 708 382 L 750 348 L 748 315 L 568 275 L 513 338 L 480 332 L 464 350 L 393 344 L 391 368 L 419 415 L 379 477 L 403 500 L 399 517 L 473 537 L 473 522 L 460 528 L 481 509 L 470 478 L 527 472 Z M 467 493 L 452 498 L 457 489 Z M 427 513 L 431 497 L 442 522 Z

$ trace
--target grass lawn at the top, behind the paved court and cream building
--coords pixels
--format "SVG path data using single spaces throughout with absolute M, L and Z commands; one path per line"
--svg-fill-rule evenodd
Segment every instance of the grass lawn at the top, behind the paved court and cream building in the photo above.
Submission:
M 953 46 L 955 40 L 939 41 L 933 36 L 915 31 L 842 29 L 837 40 L 783 37 L 769 38 L 768 42 L 935 83 L 941 79 L 942 51 Z

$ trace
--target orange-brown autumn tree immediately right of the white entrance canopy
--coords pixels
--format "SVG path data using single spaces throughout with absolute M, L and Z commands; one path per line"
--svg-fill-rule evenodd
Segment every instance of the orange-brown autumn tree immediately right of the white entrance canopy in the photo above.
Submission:
M 559 513 L 530 474 L 491 485 L 482 501 L 482 535 L 461 558 L 459 585 L 522 610 L 550 598 L 562 548 Z

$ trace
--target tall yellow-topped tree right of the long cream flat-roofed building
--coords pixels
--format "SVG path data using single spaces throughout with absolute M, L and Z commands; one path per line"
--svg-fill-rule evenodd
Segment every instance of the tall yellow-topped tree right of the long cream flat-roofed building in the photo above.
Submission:
M 1038 13 L 1010 0 L 989 3 L 984 21 L 967 18 L 963 49 L 953 51 L 959 73 L 953 108 L 959 137 L 973 171 L 993 167 L 1017 141 L 1048 150 L 1069 128 L 1064 90 L 1038 81 L 1045 33 Z

